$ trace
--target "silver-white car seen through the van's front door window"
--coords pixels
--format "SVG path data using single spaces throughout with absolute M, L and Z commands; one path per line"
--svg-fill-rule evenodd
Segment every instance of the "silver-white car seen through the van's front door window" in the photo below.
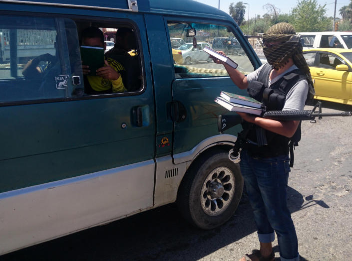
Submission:
M 193 47 L 193 43 L 185 43 L 177 50 L 180 50 L 182 53 L 183 63 L 190 64 L 200 61 L 212 62 L 213 60 L 209 58 L 209 54 L 203 51 L 205 46 L 210 47 L 209 43 L 205 42 L 198 42 L 196 48 Z

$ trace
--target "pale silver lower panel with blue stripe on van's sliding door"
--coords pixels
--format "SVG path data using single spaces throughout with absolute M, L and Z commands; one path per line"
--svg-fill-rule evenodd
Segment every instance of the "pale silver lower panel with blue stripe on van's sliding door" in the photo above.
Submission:
M 0 193 L 0 255 L 153 206 L 154 161 Z

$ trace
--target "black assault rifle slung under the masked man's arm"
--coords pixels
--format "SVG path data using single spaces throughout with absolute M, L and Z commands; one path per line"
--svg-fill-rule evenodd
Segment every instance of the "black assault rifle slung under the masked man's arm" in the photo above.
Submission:
M 319 112 L 316 109 L 319 108 Z M 340 113 L 322 113 L 322 103 L 318 102 L 313 110 L 306 111 L 269 111 L 265 112 L 262 117 L 266 119 L 272 119 L 277 121 L 311 121 L 316 123 L 316 118 L 321 120 L 323 117 L 335 117 L 335 116 L 352 116 L 352 112 L 340 112 Z M 243 122 L 239 115 L 219 115 L 218 116 L 218 130 L 223 133 L 238 124 Z M 246 143 L 246 138 L 249 128 L 242 130 L 237 135 L 237 140 L 234 147 L 229 151 L 229 159 L 235 163 L 240 162 L 240 151 L 242 145 Z

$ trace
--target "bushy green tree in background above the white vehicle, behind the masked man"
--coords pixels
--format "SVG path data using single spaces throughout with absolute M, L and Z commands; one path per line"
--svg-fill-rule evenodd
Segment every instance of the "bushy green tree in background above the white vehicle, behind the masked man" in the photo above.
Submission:
M 298 0 L 292 8 L 291 23 L 296 32 L 331 30 L 332 23 L 326 12 L 326 4 L 320 5 L 317 0 Z

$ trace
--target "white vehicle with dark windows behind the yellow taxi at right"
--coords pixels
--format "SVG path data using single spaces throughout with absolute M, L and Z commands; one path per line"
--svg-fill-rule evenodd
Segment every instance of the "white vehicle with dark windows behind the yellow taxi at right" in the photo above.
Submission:
M 303 49 L 345 48 L 352 49 L 352 32 L 298 32 Z

